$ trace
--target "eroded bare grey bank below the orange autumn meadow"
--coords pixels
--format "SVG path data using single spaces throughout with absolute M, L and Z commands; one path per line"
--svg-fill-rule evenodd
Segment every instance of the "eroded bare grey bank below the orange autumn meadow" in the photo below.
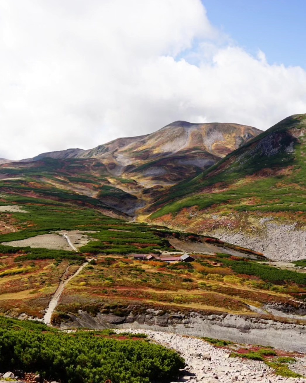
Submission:
M 144 313 L 137 314 L 133 313 L 132 307 L 130 313 L 120 317 L 101 313 L 93 317 L 81 310 L 77 315 L 69 314 L 69 316 L 70 320 L 62 323 L 62 327 L 151 329 L 306 352 L 306 325 L 277 322 L 272 319 L 227 313 L 165 313 L 154 309 L 147 309 Z

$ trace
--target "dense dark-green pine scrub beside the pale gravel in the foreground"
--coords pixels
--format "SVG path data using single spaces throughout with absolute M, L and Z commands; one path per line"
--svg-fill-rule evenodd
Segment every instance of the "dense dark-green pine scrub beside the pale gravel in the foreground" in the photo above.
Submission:
M 97 332 L 67 334 L 3 317 L 0 350 L 1 370 L 38 371 L 67 383 L 170 382 L 185 366 L 182 357 L 160 345 L 105 339 Z

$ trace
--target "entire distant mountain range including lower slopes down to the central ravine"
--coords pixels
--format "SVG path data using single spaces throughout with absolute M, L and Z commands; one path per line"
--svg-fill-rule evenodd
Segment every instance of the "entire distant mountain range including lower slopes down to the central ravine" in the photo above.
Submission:
M 162 190 L 207 169 L 259 133 L 239 124 L 177 121 L 155 133 L 119 138 L 87 151 L 67 149 L 5 161 L 0 178 L 30 176 L 135 216 Z

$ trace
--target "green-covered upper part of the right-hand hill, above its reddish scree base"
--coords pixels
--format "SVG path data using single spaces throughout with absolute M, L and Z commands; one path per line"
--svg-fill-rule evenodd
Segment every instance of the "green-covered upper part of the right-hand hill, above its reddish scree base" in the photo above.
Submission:
M 215 204 L 235 211 L 306 211 L 305 132 L 306 115 L 286 118 L 198 177 L 172 187 L 151 207 L 159 209 L 151 219 Z

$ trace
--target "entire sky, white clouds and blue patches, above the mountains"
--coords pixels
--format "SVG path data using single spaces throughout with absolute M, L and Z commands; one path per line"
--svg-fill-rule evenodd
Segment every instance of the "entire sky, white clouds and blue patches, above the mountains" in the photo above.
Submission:
M 306 113 L 304 0 L 0 0 L 0 157 Z

